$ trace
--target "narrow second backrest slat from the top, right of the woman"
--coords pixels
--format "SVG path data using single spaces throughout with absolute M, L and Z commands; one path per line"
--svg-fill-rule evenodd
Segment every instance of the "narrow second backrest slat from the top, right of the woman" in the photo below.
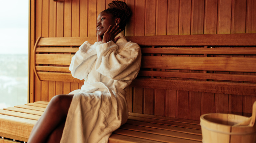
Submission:
M 141 48 L 144 54 L 256 55 L 256 48 Z

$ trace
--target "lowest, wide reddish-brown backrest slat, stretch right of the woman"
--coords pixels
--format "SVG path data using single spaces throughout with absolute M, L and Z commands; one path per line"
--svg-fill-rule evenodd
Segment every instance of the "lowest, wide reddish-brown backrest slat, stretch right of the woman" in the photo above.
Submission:
M 130 86 L 256 96 L 256 85 L 246 83 L 137 78 Z

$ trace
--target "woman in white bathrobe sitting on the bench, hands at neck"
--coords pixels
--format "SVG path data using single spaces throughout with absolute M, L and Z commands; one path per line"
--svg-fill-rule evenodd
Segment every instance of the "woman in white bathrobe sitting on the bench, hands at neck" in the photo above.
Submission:
M 124 88 L 137 76 L 141 60 L 139 45 L 120 33 L 130 15 L 120 1 L 113 1 L 98 15 L 97 42 L 84 42 L 70 64 L 72 76 L 84 79 L 84 85 L 69 95 L 53 97 L 29 143 L 108 142 L 111 133 L 126 122 Z

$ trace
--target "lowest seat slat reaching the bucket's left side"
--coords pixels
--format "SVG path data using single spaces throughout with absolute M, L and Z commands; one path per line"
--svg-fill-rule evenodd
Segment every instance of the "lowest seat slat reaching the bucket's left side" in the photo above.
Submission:
M 138 132 L 150 133 L 150 134 L 156 134 L 156 135 L 171 136 L 171 137 L 177 137 L 177 138 L 183 138 L 183 139 L 189 139 L 189 140 L 195 140 L 195 141 L 202 141 L 202 135 L 192 135 L 192 134 L 180 133 L 180 132 L 169 131 L 164 129 L 135 126 L 130 124 L 129 125 L 124 124 L 120 127 L 120 129 L 132 130 L 132 131 L 138 131 Z

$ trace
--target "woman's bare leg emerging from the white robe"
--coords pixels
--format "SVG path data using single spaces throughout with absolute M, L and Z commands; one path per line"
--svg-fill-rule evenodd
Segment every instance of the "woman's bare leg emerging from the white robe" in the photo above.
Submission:
M 64 127 L 72 98 L 73 95 L 57 95 L 52 98 L 45 112 L 33 127 L 28 143 L 45 143 L 52 133 L 61 137 L 62 126 Z M 59 134 L 61 129 L 61 134 Z M 55 134 L 57 131 L 58 134 Z

